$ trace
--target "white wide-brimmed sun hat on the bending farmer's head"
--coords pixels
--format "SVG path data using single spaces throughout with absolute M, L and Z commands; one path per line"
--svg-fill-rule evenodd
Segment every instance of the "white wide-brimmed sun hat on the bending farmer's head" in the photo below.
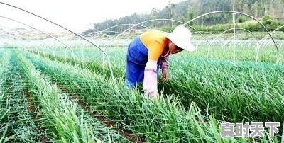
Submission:
M 191 32 L 189 29 L 185 28 L 183 25 L 177 26 L 172 33 L 167 34 L 167 38 L 169 38 L 175 45 L 178 47 L 187 50 L 194 51 L 196 50 L 195 46 L 192 45 L 190 38 Z

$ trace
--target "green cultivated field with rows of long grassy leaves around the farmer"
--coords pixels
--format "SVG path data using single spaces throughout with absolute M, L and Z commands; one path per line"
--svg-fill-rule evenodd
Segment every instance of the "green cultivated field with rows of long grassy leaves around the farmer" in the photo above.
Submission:
M 124 87 L 129 40 L 98 42 L 114 80 L 106 56 L 79 40 L 66 41 L 72 51 L 0 48 L 0 142 L 280 142 L 283 40 L 278 50 L 271 40 L 194 40 L 195 52 L 170 57 L 157 101 Z M 223 122 L 281 126 L 274 137 L 222 138 Z

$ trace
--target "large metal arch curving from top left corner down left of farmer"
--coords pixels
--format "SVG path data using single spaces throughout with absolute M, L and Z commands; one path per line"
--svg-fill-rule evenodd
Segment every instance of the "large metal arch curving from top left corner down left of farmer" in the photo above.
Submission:
M 111 71 L 111 79 L 112 79 L 113 81 L 115 81 L 115 79 L 114 79 L 114 74 L 113 74 L 113 71 L 112 71 L 112 68 L 111 68 L 111 62 L 110 62 L 109 56 L 107 55 L 107 52 L 105 52 L 101 47 L 99 47 L 99 45 L 94 44 L 94 43 L 91 42 L 90 40 L 87 40 L 87 38 L 84 38 L 82 35 L 80 35 L 80 34 L 78 34 L 78 33 L 75 33 L 75 32 L 73 32 L 72 30 L 69 30 L 69 29 L 63 27 L 62 25 L 59 25 L 58 23 L 55 23 L 55 22 L 53 22 L 53 21 L 50 21 L 50 20 L 48 20 L 47 18 L 43 18 L 43 17 L 41 17 L 41 16 L 38 16 L 37 14 L 31 13 L 30 11 L 26 11 L 26 10 L 23 9 L 23 8 L 19 8 L 19 7 L 17 7 L 17 6 L 13 6 L 13 5 L 11 5 L 11 4 L 6 4 L 6 3 L 1 2 L 1 1 L 0 1 L 0 4 L 4 4 L 4 5 L 6 5 L 6 6 L 11 6 L 11 7 L 13 7 L 13 8 L 19 9 L 19 10 L 24 11 L 24 12 L 26 12 L 26 13 L 30 13 L 31 15 L 36 16 L 36 17 L 38 17 L 38 18 L 41 18 L 41 19 L 43 19 L 43 20 L 45 20 L 45 21 L 48 21 L 48 22 L 50 22 L 50 23 L 53 23 L 54 25 L 57 25 L 57 26 L 59 26 L 60 28 L 63 28 L 63 29 L 65 29 L 65 30 L 69 31 L 70 33 L 73 33 L 73 34 L 79 36 L 80 38 L 86 40 L 87 42 L 91 43 L 91 44 L 94 45 L 95 47 L 98 47 L 99 50 L 102 50 L 102 52 L 104 53 L 104 55 L 107 56 L 107 60 L 108 60 L 108 64 L 109 64 L 109 70 Z

